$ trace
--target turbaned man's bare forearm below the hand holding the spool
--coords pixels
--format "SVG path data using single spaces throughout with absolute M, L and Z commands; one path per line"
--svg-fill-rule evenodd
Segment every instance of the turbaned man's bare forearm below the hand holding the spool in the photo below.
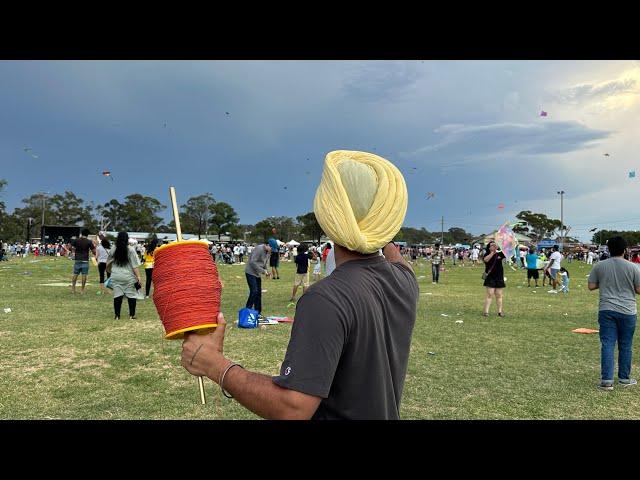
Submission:
M 209 378 L 218 383 L 220 381 L 218 372 L 223 372 L 230 363 L 224 358 L 216 363 L 218 366 L 213 369 L 213 374 Z M 308 418 L 291 402 L 293 392 L 273 383 L 268 375 L 233 367 L 227 371 L 223 385 L 240 405 L 262 418 L 270 420 Z

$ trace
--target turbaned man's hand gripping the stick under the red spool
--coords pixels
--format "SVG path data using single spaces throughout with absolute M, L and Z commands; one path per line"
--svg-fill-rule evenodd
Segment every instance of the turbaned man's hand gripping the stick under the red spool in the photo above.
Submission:
M 218 326 L 211 333 L 185 333 L 182 342 L 182 366 L 196 376 L 209 377 L 218 381 L 220 370 L 227 363 L 223 356 L 224 330 L 226 322 L 222 313 L 218 314 Z

